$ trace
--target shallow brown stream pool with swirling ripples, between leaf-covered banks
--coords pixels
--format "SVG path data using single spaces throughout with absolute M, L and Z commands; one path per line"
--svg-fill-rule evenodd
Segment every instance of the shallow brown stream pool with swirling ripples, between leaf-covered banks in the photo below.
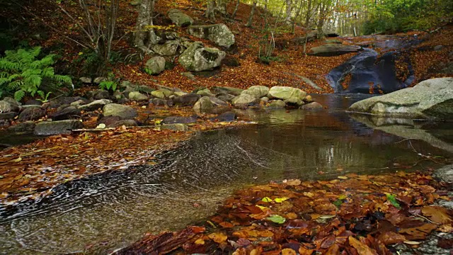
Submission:
M 420 131 L 440 144 L 405 140 L 384 132 L 388 126 L 371 128 L 345 113 L 363 96 L 315 98 L 328 110 L 243 111 L 258 124 L 200 132 L 159 155 L 154 166 L 93 175 L 57 187 L 39 203 L 0 208 L 0 254 L 107 254 L 146 232 L 203 220 L 234 190 L 252 184 L 425 169 L 435 165 L 418 153 L 452 156 L 449 126 Z

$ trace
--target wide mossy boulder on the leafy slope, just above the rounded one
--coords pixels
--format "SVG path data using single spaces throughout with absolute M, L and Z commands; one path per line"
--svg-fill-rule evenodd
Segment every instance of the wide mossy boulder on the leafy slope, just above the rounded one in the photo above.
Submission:
M 207 39 L 222 47 L 234 45 L 234 34 L 225 24 L 191 26 L 188 33 L 197 38 Z

